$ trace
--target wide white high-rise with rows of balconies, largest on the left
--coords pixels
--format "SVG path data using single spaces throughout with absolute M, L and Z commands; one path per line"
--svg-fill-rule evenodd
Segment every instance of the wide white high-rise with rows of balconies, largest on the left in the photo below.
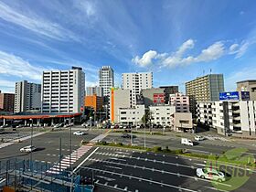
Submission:
M 84 85 L 81 68 L 44 71 L 42 112 L 82 112 Z

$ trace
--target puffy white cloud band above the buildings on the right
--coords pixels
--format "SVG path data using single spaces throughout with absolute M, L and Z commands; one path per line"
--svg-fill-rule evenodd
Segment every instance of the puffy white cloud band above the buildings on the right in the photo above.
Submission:
M 155 50 L 149 50 L 144 53 L 142 58 L 136 56 L 132 61 L 141 67 L 152 65 L 155 61 L 155 64 L 160 67 L 172 68 L 190 65 L 197 62 L 209 62 L 219 59 L 227 54 L 236 54 L 236 58 L 240 58 L 249 46 L 249 43 L 243 41 L 240 45 L 233 44 L 227 49 L 223 41 L 217 41 L 208 48 L 202 49 L 197 56 L 193 56 L 191 54 L 185 56 L 187 50 L 195 47 L 195 41 L 193 39 L 188 39 L 179 48 L 177 48 L 176 52 L 157 53 Z

